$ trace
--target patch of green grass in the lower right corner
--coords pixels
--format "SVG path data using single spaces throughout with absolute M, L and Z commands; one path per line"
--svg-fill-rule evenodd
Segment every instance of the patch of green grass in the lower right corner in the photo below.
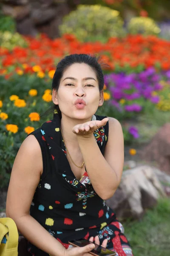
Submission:
M 170 199 L 159 199 L 142 221 L 123 223 L 133 256 L 170 256 Z

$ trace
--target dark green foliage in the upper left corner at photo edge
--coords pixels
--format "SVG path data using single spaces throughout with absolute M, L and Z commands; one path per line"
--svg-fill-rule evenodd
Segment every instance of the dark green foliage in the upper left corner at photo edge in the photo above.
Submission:
M 3 15 L 0 11 L 0 31 L 5 32 L 9 31 L 11 33 L 15 32 L 15 21 L 12 17 Z

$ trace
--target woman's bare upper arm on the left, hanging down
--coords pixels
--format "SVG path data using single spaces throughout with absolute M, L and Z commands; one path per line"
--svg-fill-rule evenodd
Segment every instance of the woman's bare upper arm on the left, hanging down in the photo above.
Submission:
M 41 172 L 41 148 L 34 135 L 30 135 L 20 146 L 12 167 L 6 201 L 7 216 L 17 218 L 29 214 Z

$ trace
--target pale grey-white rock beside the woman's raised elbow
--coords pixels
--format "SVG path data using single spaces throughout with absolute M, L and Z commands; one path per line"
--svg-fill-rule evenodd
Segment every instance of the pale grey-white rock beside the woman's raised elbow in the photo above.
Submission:
M 156 206 L 158 199 L 166 196 L 153 168 L 138 166 L 123 172 L 119 188 L 106 203 L 118 218 L 140 219 L 145 209 Z

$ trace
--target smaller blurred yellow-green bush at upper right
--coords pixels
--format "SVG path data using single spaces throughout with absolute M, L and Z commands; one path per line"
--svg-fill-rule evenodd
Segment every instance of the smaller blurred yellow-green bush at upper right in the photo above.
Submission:
M 158 35 L 161 29 L 149 17 L 133 17 L 128 24 L 130 34 Z

